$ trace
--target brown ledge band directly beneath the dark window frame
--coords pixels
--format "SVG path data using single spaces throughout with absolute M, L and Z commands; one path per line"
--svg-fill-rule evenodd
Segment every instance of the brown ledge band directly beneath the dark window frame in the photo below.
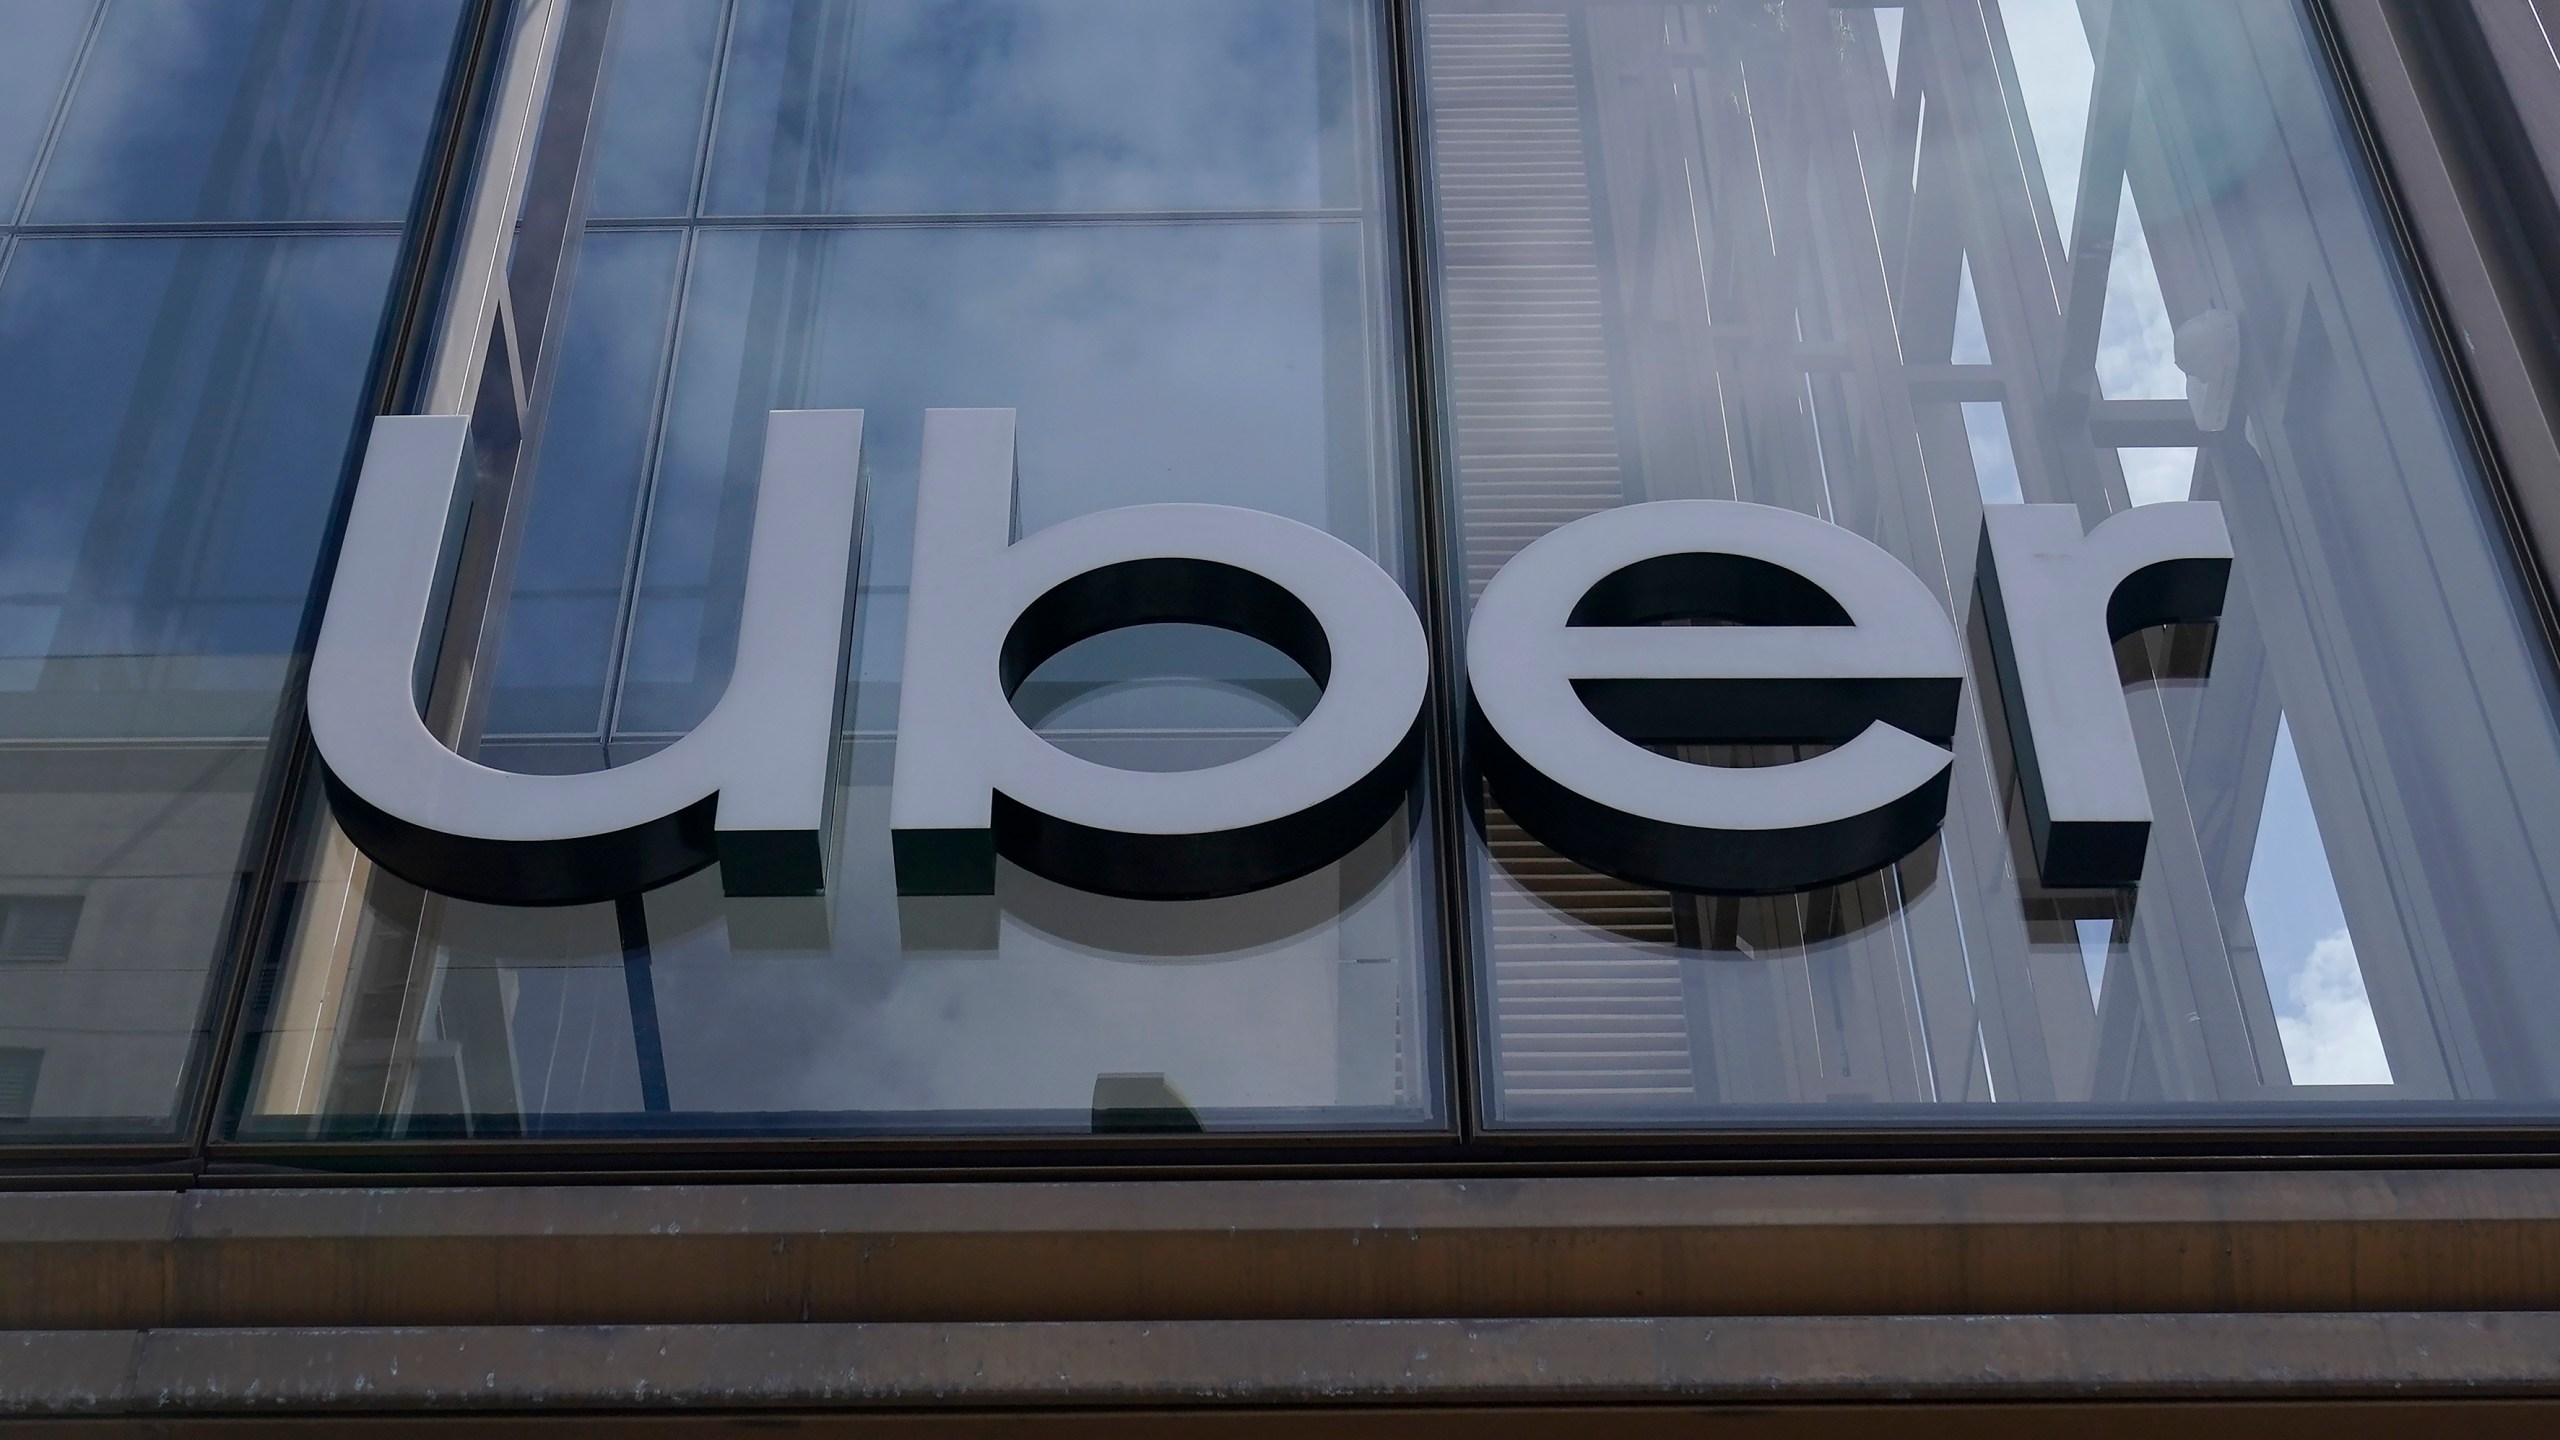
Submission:
M 2560 1309 L 2560 1174 L 0 1194 L 0 1327 Z

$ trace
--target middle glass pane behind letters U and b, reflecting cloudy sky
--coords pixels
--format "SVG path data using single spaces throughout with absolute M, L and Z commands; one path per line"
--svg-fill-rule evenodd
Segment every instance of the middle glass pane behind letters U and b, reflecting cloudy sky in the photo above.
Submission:
M 684 735 L 727 682 L 765 415 L 858 407 L 829 912 L 722 899 L 712 871 L 471 904 L 374 871 L 315 794 L 238 1135 L 1439 1125 L 1423 794 L 1234 899 L 1001 866 L 993 899 L 899 902 L 888 858 L 924 410 L 1016 410 L 1019 536 L 1229 502 L 1418 592 L 1372 8 L 566 0 L 522 8 L 509 67 L 540 102 L 484 161 L 484 200 L 525 177 L 486 231 L 497 305 L 448 307 L 440 407 L 468 407 L 489 502 L 430 723 L 545 774 Z M 1144 625 L 1055 656 L 1016 710 L 1101 764 L 1196 769 L 1313 697 L 1254 641 Z

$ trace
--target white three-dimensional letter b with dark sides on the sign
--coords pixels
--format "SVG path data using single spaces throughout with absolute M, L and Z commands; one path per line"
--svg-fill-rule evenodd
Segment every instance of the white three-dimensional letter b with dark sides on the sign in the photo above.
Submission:
M 888 802 L 901 894 L 988 894 L 996 856 L 1129 897 L 1239 894 L 1313 871 L 1395 812 L 1431 656 L 1403 589 L 1352 546 L 1262 510 L 1132 505 L 1011 543 L 1014 413 L 927 410 Z M 1267 751 L 1142 774 L 1014 715 L 1057 651 L 1196 623 L 1295 659 L 1324 700 Z

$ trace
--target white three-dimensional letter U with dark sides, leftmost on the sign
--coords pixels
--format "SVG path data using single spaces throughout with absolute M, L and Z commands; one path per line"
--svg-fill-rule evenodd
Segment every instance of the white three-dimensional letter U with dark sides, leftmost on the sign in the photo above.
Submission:
M 730 687 L 691 735 L 594 774 L 497 771 L 417 715 L 468 430 L 463 415 L 381 418 L 364 456 L 310 679 L 346 833 L 392 874 L 499 904 L 609 899 L 714 858 L 730 894 L 819 894 L 863 413 L 773 413 Z

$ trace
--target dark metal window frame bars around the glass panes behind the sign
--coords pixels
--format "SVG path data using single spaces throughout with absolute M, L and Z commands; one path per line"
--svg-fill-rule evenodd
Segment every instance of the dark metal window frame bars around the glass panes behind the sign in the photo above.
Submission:
M 2493 28 L 2519 5 L 2547 0 L 2296 0 L 2335 72 L 2348 123 L 2363 141 L 2383 220 L 2401 243 L 2422 320 L 2447 366 L 2468 443 L 2506 518 L 2519 569 L 2532 589 L 2545 643 L 2560 659 L 2560 300 L 2537 259 L 2560 254 L 2560 202 L 2537 164 L 2527 115 L 2560 123 L 2560 69 L 2519 92 L 2501 64 Z M 1426 620 L 1446 635 L 1459 602 L 1446 566 L 1446 436 L 1439 423 L 1439 318 L 1431 254 L 1428 149 L 1421 110 L 1416 31 L 1421 0 L 1377 0 L 1388 115 L 1395 131 L 1390 184 L 1400 202 L 1405 343 L 1411 384 L 1411 466 L 1421 482 Z M 412 208 L 399 261 L 399 292 L 384 325 L 369 395 L 376 413 L 415 405 L 428 366 L 438 297 L 445 290 L 471 195 L 479 136 L 515 0 L 476 0 L 456 49 L 433 156 Z M 2529 79 L 2529 77 L 2527 77 Z M 2547 113 L 2547 115 L 2545 115 Z M 330 556 L 346 492 L 330 518 Z M 325 594 L 325 592 L 323 592 Z M 323 597 L 302 625 L 302 653 L 317 633 Z M 1446 646 L 1444 646 L 1446 651 Z M 1436 656 L 1436 815 L 1444 835 L 1467 822 L 1459 789 L 1454 659 Z M 300 684 L 300 679 L 294 682 Z M 358 1140 L 241 1143 L 223 1138 L 246 1094 L 241 1022 L 259 966 L 279 925 L 276 874 L 292 843 L 297 789 L 310 774 L 300 694 L 282 707 L 274 758 L 259 797 L 248 884 L 233 907 L 225 961 L 207 986 L 210 1045 L 200 1045 L 166 1143 L 26 1145 L 0 1150 L 0 1186 L 141 1184 L 192 1179 L 561 1179 L 668 1174 L 899 1174 L 899 1176 L 1260 1176 L 1260 1174 L 1541 1174 L 1541 1171 L 1723 1171 L 1723 1168 L 2156 1168 L 2156 1166 L 2355 1166 L 2355 1163 L 2522 1163 L 2560 1158 L 2560 1117 L 2534 1122 L 2417 1117 L 2322 1109 L 2284 1122 L 2194 1125 L 2068 1122 L 1984 1125 L 1979 1120 L 1897 1122 L 1892 1127 L 1805 1125 L 1787 1130 L 1610 1130 L 1487 1133 L 1475 1081 L 1480 1017 L 1472 956 L 1467 856 L 1441 846 L 1441 976 L 1446 1015 L 1439 1043 L 1454 1122 L 1403 1135 L 1065 1135 L 1065 1138 L 594 1138 L 594 1140 Z

